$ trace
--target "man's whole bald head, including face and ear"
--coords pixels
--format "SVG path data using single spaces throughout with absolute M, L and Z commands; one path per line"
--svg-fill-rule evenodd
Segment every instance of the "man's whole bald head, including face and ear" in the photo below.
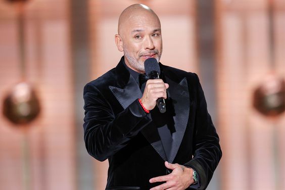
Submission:
M 162 54 L 162 35 L 158 16 L 149 7 L 134 4 L 127 7 L 119 18 L 115 43 L 124 52 L 125 64 L 132 70 L 144 73 L 144 62 Z

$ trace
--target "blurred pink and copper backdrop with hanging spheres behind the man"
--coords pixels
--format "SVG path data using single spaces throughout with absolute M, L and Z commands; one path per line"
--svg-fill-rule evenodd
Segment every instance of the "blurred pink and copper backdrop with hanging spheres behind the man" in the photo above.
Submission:
M 105 189 L 83 86 L 119 62 L 135 3 L 160 17 L 161 62 L 200 77 L 223 150 L 207 189 L 285 189 L 284 0 L 0 0 L 0 189 Z

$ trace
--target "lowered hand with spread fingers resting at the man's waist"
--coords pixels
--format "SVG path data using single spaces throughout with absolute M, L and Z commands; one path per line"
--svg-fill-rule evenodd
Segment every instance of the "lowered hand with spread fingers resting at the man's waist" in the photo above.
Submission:
M 184 190 L 195 182 L 192 178 L 193 170 L 191 168 L 187 168 L 179 164 L 171 164 L 168 162 L 165 162 L 165 166 L 173 171 L 168 175 L 151 178 L 151 183 L 162 181 L 165 181 L 165 183 L 155 186 L 150 190 Z

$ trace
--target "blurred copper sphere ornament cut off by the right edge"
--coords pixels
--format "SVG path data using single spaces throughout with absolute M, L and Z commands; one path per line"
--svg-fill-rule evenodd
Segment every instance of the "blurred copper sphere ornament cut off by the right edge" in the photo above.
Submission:
M 273 75 L 266 77 L 253 94 L 254 108 L 264 116 L 278 116 L 285 111 L 285 82 Z

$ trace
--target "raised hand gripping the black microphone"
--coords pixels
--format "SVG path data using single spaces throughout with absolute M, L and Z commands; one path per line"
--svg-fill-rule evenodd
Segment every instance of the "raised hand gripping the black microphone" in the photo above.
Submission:
M 166 89 L 169 84 L 164 83 L 162 79 L 149 79 L 146 83 L 146 88 L 141 97 L 141 104 L 147 109 L 152 110 L 156 106 L 156 101 L 159 98 L 167 98 Z

